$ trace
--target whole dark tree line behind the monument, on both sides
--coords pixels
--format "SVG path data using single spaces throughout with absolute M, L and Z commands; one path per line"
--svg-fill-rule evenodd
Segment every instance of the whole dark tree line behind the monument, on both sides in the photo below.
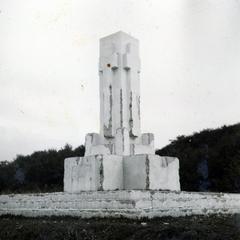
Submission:
M 0 193 L 62 191 L 64 159 L 84 153 L 66 144 L 0 162 Z M 240 192 L 240 124 L 178 136 L 156 154 L 179 158 L 184 191 Z

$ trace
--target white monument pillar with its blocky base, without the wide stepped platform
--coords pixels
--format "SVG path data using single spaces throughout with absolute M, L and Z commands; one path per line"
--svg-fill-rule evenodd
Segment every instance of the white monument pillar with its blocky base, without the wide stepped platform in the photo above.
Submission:
M 180 190 L 179 160 L 155 155 L 140 128 L 139 42 L 124 32 L 100 40 L 100 134 L 85 156 L 65 159 L 64 191 Z

